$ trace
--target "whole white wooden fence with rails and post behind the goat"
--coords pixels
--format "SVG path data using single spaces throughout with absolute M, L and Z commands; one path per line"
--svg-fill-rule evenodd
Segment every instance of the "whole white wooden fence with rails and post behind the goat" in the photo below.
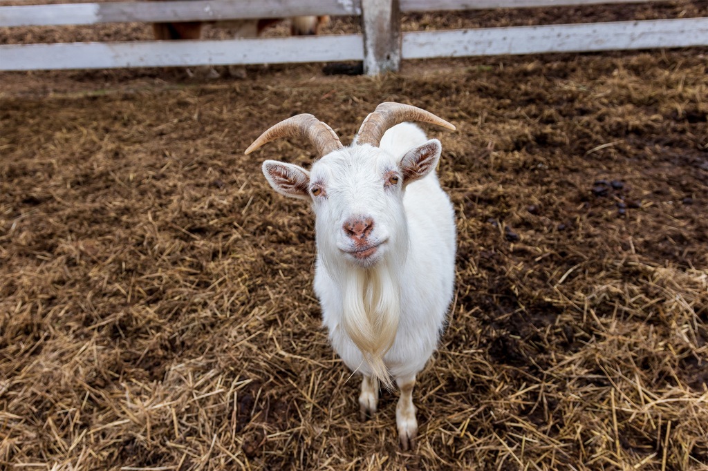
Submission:
M 641 3 L 651 0 L 616 0 Z M 0 28 L 131 21 L 362 16 L 362 35 L 224 41 L 0 45 L 0 70 L 108 69 L 362 60 L 367 74 L 401 59 L 708 46 L 708 18 L 402 33 L 400 13 L 610 3 L 608 0 L 205 0 L 0 7 Z

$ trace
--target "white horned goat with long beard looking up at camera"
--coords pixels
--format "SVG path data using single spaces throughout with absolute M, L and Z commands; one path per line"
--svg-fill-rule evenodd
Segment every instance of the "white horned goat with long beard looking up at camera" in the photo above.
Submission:
M 344 363 L 364 377 L 362 419 L 376 411 L 379 380 L 390 388 L 395 378 L 404 449 L 418 431 L 416 374 L 438 345 L 455 279 L 455 218 L 435 175 L 440 141 L 409 120 L 455 129 L 420 108 L 382 103 L 349 147 L 324 122 L 297 115 L 246 150 L 283 136 L 317 147 L 321 158 L 309 172 L 265 161 L 263 173 L 275 191 L 312 204 L 324 325 Z

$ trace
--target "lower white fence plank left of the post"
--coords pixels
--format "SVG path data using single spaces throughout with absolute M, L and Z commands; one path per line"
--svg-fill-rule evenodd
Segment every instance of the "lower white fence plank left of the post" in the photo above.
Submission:
M 64 42 L 1 45 L 0 70 L 282 64 L 362 60 L 361 35 L 228 41 Z

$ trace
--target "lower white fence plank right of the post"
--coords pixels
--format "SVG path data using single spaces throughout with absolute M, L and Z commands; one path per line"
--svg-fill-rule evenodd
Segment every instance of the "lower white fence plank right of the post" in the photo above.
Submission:
M 404 33 L 404 59 L 708 46 L 708 18 Z

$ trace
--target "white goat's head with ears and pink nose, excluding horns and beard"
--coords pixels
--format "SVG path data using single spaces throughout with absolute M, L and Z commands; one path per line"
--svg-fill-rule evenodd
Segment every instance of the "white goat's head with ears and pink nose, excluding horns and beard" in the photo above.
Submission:
M 317 246 L 326 264 L 370 268 L 387 257 L 403 261 L 409 244 L 404 192 L 435 169 L 440 150 L 437 139 L 403 156 L 354 145 L 319 159 L 311 172 L 265 161 L 263 173 L 277 192 L 310 200 Z

